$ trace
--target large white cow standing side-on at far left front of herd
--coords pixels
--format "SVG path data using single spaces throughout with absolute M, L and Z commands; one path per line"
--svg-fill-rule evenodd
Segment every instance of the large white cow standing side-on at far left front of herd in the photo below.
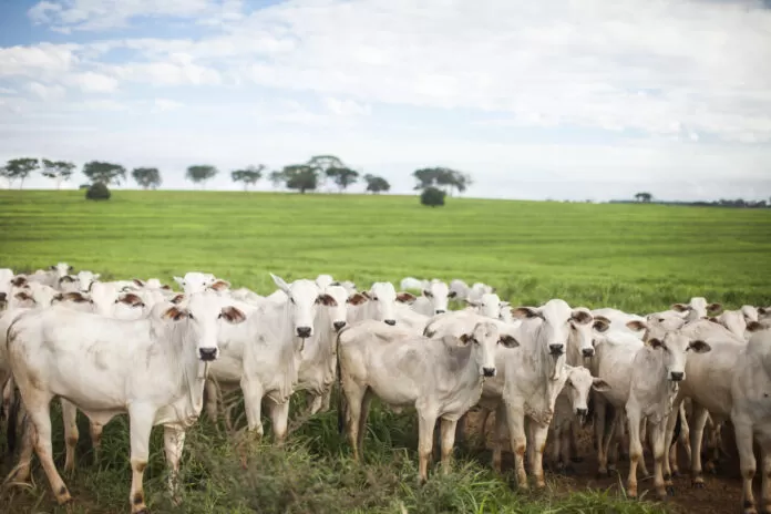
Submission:
M 201 413 L 206 368 L 217 358 L 220 327 L 241 321 L 243 312 L 212 292 L 191 295 L 185 309 L 157 305 L 147 318 L 134 321 L 56 308 L 20 316 L 9 329 L 10 364 L 56 501 L 62 504 L 71 496 L 51 450 L 49 403 L 54 395 L 100 424 L 128 413 L 130 503 L 133 513 L 144 512 L 142 479 L 151 429 L 164 425 L 174 490 L 185 430 Z M 21 462 L 20 471 L 27 479 L 29 461 Z

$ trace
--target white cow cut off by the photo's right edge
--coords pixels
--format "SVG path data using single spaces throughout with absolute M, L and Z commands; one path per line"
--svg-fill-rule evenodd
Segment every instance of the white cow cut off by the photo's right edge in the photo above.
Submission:
M 741 505 L 744 514 L 757 514 L 752 479 L 757 463 L 752 444 L 758 442 L 762 459 L 761 500 L 771 511 L 771 330 L 757 325 L 747 348 L 739 354 L 731 382 L 731 422 L 739 451 L 739 466 L 743 479 Z

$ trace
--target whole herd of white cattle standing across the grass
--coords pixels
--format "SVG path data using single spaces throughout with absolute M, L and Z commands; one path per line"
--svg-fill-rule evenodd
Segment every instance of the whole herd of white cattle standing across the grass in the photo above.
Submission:
M 56 500 L 70 500 L 52 459 L 54 397 L 64 419 L 66 471 L 75 466 L 78 410 L 89 418 L 94 452 L 104 424 L 127 413 L 130 503 L 132 512 L 144 512 L 152 426 L 164 426 L 174 491 L 185 431 L 204 409 L 217 418 L 222 390 L 240 389 L 255 436 L 263 435 L 265 403 L 280 444 L 290 397 L 306 391 L 309 413 L 327 410 L 337 380 L 338 415 L 356 460 L 373 397 L 395 411 L 415 409 L 421 482 L 436 425 L 446 471 L 459 421 L 476 408 L 486 412 L 485 421 L 495 412 L 492 465 L 500 471 L 508 439 L 518 486 L 527 487 L 527 454 L 530 473 L 543 487 L 547 439 L 554 464 L 569 465 L 578 459 L 576 435 L 590 413 L 598 473 L 613 470 L 628 438 L 627 491 L 637 496 L 637 467 L 647 474 L 647 435 L 656 492 L 666 497 L 678 472 L 678 445 L 690 459 L 693 485 L 703 487 L 702 435 L 707 430 L 717 451 L 721 424 L 730 419 L 742 507 L 757 512 L 754 438 L 763 452 L 762 498 L 771 512 L 767 306 L 723 310 L 691 298 L 639 316 L 570 307 L 562 299 L 512 307 L 494 288 L 462 280 L 410 277 L 397 292 L 387 281 L 357 290 L 329 275 L 290 284 L 271 277 L 278 289 L 264 297 L 193 271 L 174 277 L 176 292 L 153 278 L 101 281 L 99 274 L 74 274 L 64 263 L 30 275 L 0 269 L 4 425 L 9 441 L 23 432 L 12 479 L 29 480 L 34 450 Z M 465 308 L 450 310 L 451 299 Z

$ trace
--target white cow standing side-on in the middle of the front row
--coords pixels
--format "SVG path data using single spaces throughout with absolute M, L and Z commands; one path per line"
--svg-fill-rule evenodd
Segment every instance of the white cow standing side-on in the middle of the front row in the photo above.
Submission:
M 495 347 L 516 346 L 485 321 L 461 338 L 430 339 L 379 321 L 363 321 L 338 338 L 340 388 L 353 459 L 363 450 L 367 414 L 373 395 L 393 407 L 414 407 L 419 423 L 419 479 L 428 480 L 433 429 L 442 420 L 442 463 L 449 471 L 455 423 L 480 399 L 485 377 L 495 376 Z M 343 410 L 346 412 L 343 412 Z

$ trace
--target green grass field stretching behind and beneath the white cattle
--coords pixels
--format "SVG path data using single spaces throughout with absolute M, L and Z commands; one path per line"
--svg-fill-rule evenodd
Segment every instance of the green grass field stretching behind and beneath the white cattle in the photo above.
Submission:
M 513 304 L 559 297 L 574 306 L 661 310 L 691 296 L 771 305 L 771 212 L 493 202 L 450 198 L 425 208 L 414 197 L 192 192 L 113 192 L 92 203 L 82 192 L 0 192 L 0 267 L 32 270 L 60 260 L 103 279 L 210 271 L 267 294 L 268 271 L 286 279 L 329 273 L 366 287 L 404 276 L 482 280 Z M 153 512 L 656 512 L 616 493 L 513 493 L 461 455 L 456 472 L 418 487 L 413 417 L 370 418 L 368 463 L 354 466 L 335 412 L 318 415 L 286 450 L 260 446 L 241 463 L 222 428 L 206 420 L 188 435 L 186 495 L 164 494 L 160 430 L 145 492 Z M 83 421 L 83 420 L 81 420 Z M 56 422 L 59 424 L 56 424 Z M 61 421 L 54 421 L 60 426 Z M 48 482 L 0 496 L 0 512 L 126 512 L 131 470 L 126 422 L 107 425 L 95 464 L 82 425 L 83 455 L 68 480 L 70 511 L 51 502 Z M 63 453 L 58 429 L 54 449 Z M 8 470 L 8 462 L 3 471 Z M 66 479 L 65 479 L 66 480 Z M 738 502 L 738 498 L 737 498 Z M 10 511 L 2 508 L 6 503 Z

